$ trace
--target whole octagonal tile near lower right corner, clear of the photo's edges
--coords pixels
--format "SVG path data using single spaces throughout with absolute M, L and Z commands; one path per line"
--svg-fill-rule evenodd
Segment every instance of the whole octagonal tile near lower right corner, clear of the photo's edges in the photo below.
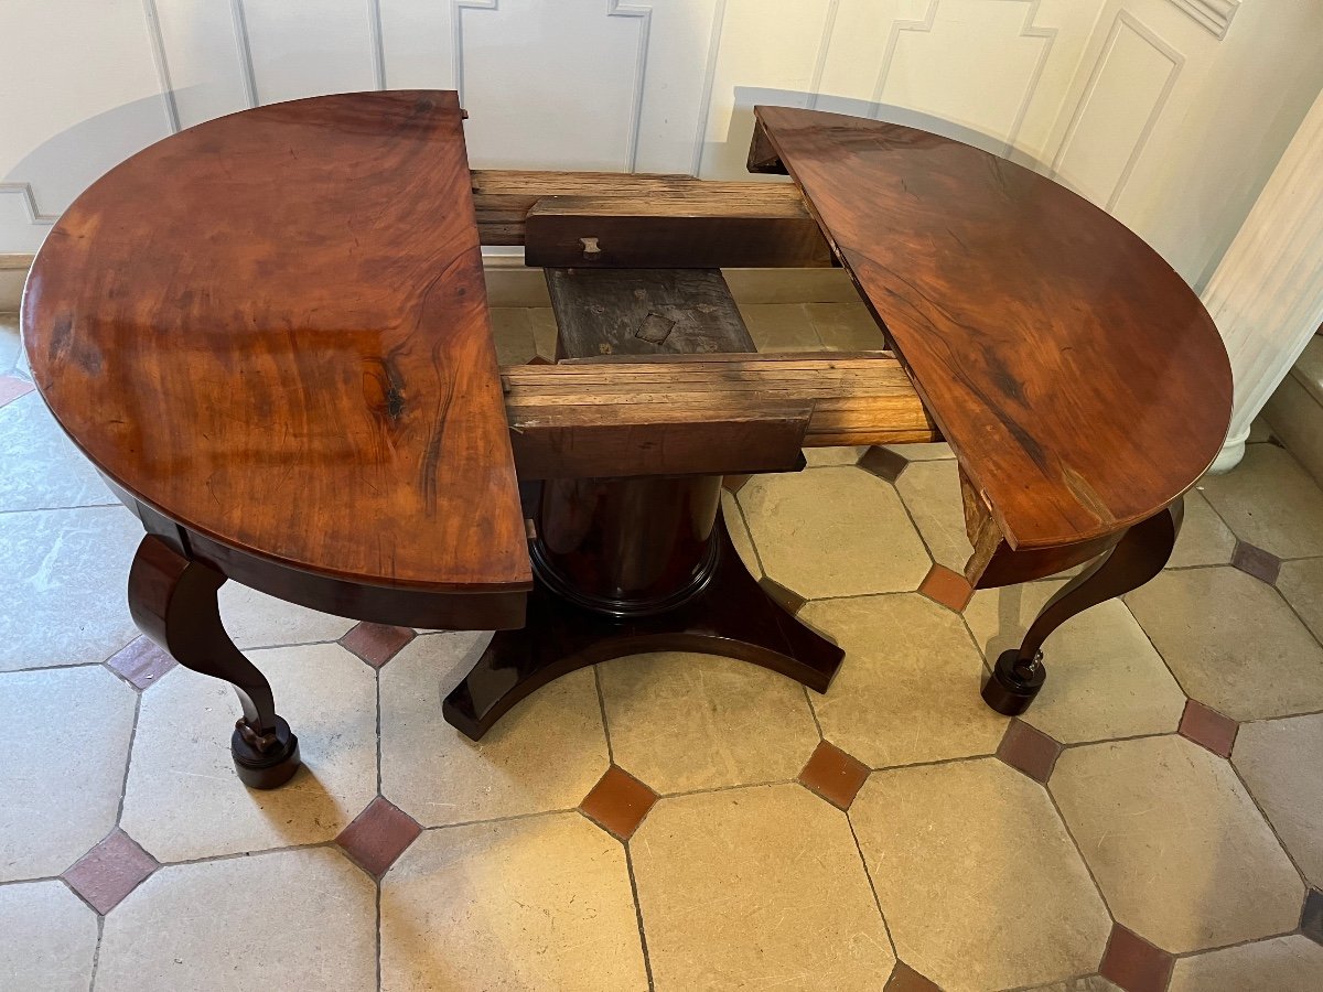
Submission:
M 1172 954 L 1294 930 L 1304 885 L 1221 758 L 1183 737 L 1068 750 L 1049 783 L 1117 922 Z

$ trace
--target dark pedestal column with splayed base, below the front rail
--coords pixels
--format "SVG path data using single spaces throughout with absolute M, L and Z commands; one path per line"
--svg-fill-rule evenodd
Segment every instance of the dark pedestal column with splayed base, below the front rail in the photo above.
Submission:
M 717 515 L 720 484 L 589 480 L 544 500 L 525 626 L 492 638 L 446 697 L 446 721 L 476 741 L 553 679 L 650 651 L 736 657 L 826 692 L 844 652 L 745 569 Z

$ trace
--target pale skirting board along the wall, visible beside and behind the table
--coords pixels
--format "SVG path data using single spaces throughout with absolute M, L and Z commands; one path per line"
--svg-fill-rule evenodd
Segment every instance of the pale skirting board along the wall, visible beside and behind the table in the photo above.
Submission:
M 33 255 L 0 254 L 0 313 L 19 310 L 22 282 Z M 519 255 L 487 255 L 487 300 L 493 307 L 549 307 L 541 269 Z M 740 303 L 859 303 L 844 269 L 728 269 L 730 292 Z

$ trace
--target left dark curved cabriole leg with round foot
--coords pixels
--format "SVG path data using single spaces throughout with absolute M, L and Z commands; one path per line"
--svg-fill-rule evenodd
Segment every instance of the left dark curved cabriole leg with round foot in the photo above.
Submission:
M 216 593 L 222 585 L 225 575 L 216 569 L 148 534 L 128 573 L 128 611 L 143 634 L 184 668 L 234 686 L 243 708 L 230 738 L 234 770 L 250 788 L 275 788 L 299 770 L 299 738 L 277 716 L 266 676 L 221 626 Z

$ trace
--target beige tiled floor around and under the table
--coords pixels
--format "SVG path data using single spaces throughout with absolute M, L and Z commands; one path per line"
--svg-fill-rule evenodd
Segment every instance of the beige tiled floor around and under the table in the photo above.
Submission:
M 763 347 L 881 344 L 848 304 L 745 310 Z M 496 324 L 503 360 L 549 356 L 545 311 Z M 1060 581 L 963 614 L 917 591 L 966 550 L 945 444 L 898 447 L 894 483 L 845 448 L 724 496 L 750 569 L 845 648 L 824 696 L 639 656 L 474 743 L 441 700 L 487 635 L 376 669 L 336 643 L 352 622 L 228 587 L 306 762 L 263 794 L 224 686 L 103 664 L 136 636 L 139 529 L 52 426 L 34 394 L 0 407 L 0 989 L 1323 988 L 1323 492 L 1271 442 L 1191 493 L 1163 575 L 1048 640 L 1035 730 L 978 689 Z M 1187 696 L 1241 722 L 1229 759 Z M 1008 727 L 1060 751 L 1045 786 Z M 824 739 L 871 770 L 848 809 L 796 782 Z M 658 794 L 624 841 L 577 809 L 613 765 Z M 409 827 L 380 878 L 336 844 L 378 795 Z M 111 870 L 99 914 L 69 869 L 116 827 L 160 866 Z

